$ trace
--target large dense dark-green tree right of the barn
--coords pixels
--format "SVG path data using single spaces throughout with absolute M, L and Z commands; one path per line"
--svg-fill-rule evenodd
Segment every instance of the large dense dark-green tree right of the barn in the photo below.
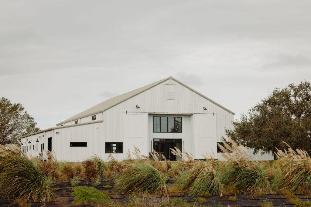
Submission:
M 225 129 L 235 142 L 257 153 L 283 149 L 286 142 L 293 149 L 311 153 L 311 84 L 308 81 L 275 88 L 239 120 L 233 129 Z

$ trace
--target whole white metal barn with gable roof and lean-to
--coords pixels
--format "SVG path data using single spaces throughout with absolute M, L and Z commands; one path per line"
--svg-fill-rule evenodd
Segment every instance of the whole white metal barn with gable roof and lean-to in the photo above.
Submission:
M 69 119 L 22 137 L 22 150 L 32 156 L 44 149 L 58 160 L 81 162 L 93 155 L 107 161 L 111 152 L 118 160 L 137 146 L 143 155 L 155 150 L 175 160 L 169 148 L 178 147 L 203 159 L 217 153 L 217 142 L 232 128 L 234 112 L 187 85 L 168 77 L 91 107 Z M 271 153 L 253 155 L 273 160 Z

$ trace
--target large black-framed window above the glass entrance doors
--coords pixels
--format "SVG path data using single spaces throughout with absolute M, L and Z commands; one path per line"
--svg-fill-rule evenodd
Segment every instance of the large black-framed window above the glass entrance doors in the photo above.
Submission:
M 181 133 L 181 117 L 153 117 L 153 132 Z

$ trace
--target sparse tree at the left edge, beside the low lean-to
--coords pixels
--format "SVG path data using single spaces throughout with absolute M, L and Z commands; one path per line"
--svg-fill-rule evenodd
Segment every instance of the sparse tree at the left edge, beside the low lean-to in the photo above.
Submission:
M 40 129 L 36 127 L 31 117 L 19 103 L 12 104 L 7 98 L 0 99 L 0 144 L 17 144 L 16 139 L 34 133 Z

